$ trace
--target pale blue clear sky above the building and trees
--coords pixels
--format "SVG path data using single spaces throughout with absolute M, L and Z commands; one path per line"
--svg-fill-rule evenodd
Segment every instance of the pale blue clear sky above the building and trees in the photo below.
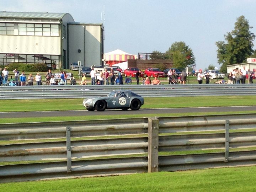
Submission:
M 194 53 L 196 69 L 219 68 L 215 42 L 225 41 L 236 18 L 244 15 L 256 34 L 256 0 L 9 0 L 0 10 L 69 13 L 75 22 L 103 23 L 103 6 L 105 53 L 164 53 L 183 41 Z

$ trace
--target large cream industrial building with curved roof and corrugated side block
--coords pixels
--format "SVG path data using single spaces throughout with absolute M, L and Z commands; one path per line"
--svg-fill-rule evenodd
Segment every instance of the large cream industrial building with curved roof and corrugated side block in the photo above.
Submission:
M 47 63 L 69 69 L 102 64 L 102 23 L 78 23 L 68 13 L 0 12 L 0 65 Z

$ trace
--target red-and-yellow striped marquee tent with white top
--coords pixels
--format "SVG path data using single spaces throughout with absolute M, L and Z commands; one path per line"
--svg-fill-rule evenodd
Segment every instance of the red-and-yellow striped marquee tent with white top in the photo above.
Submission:
M 104 59 L 106 64 L 112 66 L 113 64 L 118 64 L 126 62 L 128 59 L 136 59 L 136 55 L 131 55 L 129 53 L 123 52 L 120 49 L 108 52 L 104 54 Z

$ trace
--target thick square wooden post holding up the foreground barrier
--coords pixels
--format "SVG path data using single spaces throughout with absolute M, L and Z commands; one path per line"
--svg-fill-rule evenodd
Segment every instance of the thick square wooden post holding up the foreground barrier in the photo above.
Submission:
M 148 172 L 158 172 L 159 119 L 148 119 Z

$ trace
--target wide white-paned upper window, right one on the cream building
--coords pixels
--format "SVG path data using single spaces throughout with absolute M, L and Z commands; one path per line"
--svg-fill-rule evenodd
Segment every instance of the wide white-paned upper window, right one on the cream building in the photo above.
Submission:
M 59 36 L 58 24 L 18 23 L 18 35 Z

